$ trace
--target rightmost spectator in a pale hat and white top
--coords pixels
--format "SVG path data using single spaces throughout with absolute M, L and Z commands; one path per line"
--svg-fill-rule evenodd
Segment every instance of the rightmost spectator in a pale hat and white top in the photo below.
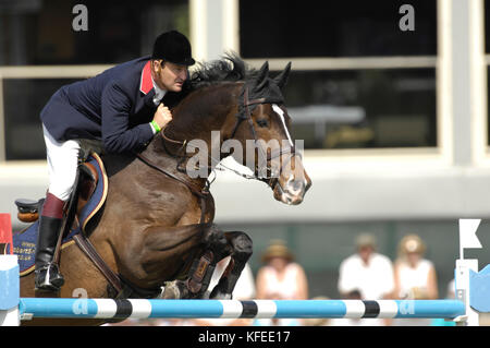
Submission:
M 426 244 L 417 235 L 405 236 L 399 244 L 399 259 L 394 266 L 395 296 L 399 299 L 436 300 L 438 284 L 436 267 L 424 259 Z M 430 320 L 396 320 L 395 325 L 425 326 Z

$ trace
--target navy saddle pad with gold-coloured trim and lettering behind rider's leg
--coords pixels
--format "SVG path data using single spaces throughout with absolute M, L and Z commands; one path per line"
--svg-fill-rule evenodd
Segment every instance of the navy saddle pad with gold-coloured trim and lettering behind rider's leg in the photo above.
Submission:
M 87 225 L 87 223 L 95 214 L 97 214 L 97 212 L 106 202 L 108 179 L 102 160 L 97 154 L 93 153 L 87 158 L 87 161 L 93 164 L 96 168 L 99 181 L 97 182 L 94 194 L 78 215 L 79 224 L 77 224 L 76 228 L 72 228 L 68 236 L 63 238 L 61 250 L 75 242 L 73 240 L 73 237 L 81 233 L 82 229 L 85 230 L 85 226 Z M 14 253 L 19 257 L 19 268 L 21 276 L 25 276 L 34 271 L 34 255 L 36 249 L 38 226 L 39 220 L 37 220 L 23 231 L 13 235 Z

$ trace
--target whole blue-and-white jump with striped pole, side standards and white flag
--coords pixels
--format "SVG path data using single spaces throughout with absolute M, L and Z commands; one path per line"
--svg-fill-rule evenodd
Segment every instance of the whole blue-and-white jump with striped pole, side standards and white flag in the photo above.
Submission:
M 475 235 L 478 224 L 479 220 L 478 223 L 460 220 L 460 242 L 463 247 L 455 269 L 456 300 L 236 301 L 20 298 L 16 255 L 3 254 L 0 255 L 0 326 L 16 326 L 21 320 L 33 317 L 444 317 L 454 320 L 458 325 L 478 325 L 478 312 L 470 305 L 478 302 L 474 300 L 474 292 L 488 289 L 486 284 L 490 281 L 486 280 L 487 274 L 482 274 L 482 279 L 487 283 L 482 286 L 473 286 L 471 279 L 478 271 L 478 262 L 463 257 L 463 249 L 481 248 L 475 243 L 475 239 L 478 241 Z M 490 267 L 488 279 L 490 280 Z M 471 293 L 470 285 L 474 291 Z M 490 308 L 488 296 L 480 298 L 483 300 L 476 307 Z

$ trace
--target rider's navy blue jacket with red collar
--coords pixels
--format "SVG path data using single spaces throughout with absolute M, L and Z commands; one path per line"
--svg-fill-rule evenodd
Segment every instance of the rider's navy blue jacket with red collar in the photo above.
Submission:
M 108 153 L 123 153 L 154 136 L 154 96 L 149 57 L 143 57 L 61 87 L 40 118 L 59 142 L 100 140 Z

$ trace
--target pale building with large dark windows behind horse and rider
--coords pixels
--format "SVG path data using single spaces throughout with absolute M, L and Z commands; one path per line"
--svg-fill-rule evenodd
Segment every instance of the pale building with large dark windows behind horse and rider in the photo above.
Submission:
M 76 32 L 76 4 L 88 29 Z M 414 31 L 403 31 L 411 4 Z M 61 85 L 150 53 L 155 37 L 187 34 L 197 60 L 238 52 L 249 64 L 293 62 L 285 92 L 314 185 L 299 206 L 260 182 L 218 172 L 217 223 L 248 232 L 253 269 L 270 239 L 305 266 L 310 296 L 338 296 L 338 267 L 369 231 L 392 259 L 409 232 L 445 293 L 457 257 L 457 219 L 483 218 L 490 245 L 488 64 L 483 0 L 0 1 L 0 212 L 47 188 L 39 111 Z M 402 25 L 403 26 L 403 25 Z M 14 220 L 15 229 L 22 224 Z M 468 251 L 481 264 L 490 256 Z

